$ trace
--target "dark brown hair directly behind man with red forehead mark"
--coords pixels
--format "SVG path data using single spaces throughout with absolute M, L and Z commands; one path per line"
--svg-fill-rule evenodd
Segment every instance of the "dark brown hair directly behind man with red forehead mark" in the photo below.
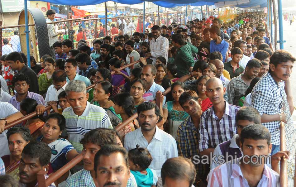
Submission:
M 87 132 L 84 137 L 80 140 L 80 144 L 85 145 L 92 143 L 98 146 L 104 146 L 107 144 L 117 144 L 116 137 L 110 133 L 109 129 L 96 128 Z

